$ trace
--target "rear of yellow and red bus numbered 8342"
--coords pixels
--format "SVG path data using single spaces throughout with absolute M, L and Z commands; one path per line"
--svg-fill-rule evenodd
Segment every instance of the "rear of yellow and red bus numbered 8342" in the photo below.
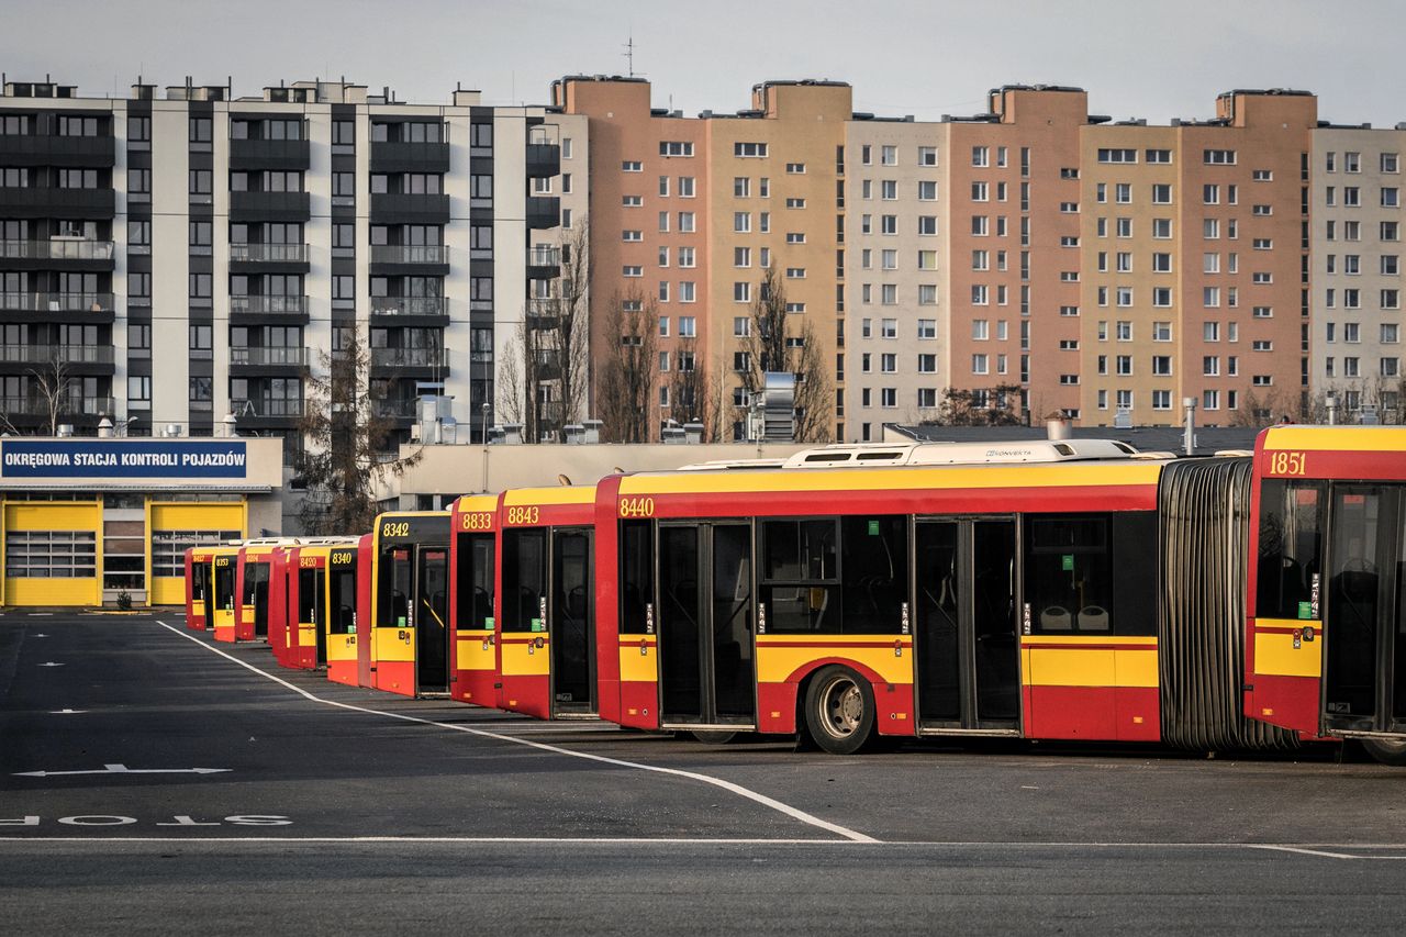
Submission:
M 357 644 L 363 687 L 447 694 L 449 511 L 396 511 L 371 533 L 371 627 Z

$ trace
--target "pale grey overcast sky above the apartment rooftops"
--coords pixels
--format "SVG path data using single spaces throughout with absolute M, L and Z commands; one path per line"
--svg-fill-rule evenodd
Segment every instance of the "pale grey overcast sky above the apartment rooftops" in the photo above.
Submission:
M 883 115 L 984 110 L 1007 83 L 1076 84 L 1115 120 L 1208 118 L 1236 87 L 1319 96 L 1319 117 L 1406 121 L 1406 3 L 1392 0 L 4 0 L 11 80 L 125 94 L 157 86 L 346 76 L 405 101 L 447 103 L 456 82 L 486 104 L 548 100 L 554 77 L 634 70 L 657 107 L 748 106 L 768 79 L 855 87 Z

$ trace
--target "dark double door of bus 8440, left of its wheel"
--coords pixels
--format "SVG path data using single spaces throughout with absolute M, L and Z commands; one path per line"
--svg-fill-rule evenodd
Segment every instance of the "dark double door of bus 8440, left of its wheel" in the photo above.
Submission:
M 659 525 L 664 727 L 755 725 L 751 566 L 745 523 Z

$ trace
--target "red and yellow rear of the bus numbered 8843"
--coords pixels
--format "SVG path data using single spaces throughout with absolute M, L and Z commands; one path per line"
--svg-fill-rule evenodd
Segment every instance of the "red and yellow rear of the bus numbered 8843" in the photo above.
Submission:
M 499 505 L 498 706 L 596 715 L 595 485 L 505 491 Z

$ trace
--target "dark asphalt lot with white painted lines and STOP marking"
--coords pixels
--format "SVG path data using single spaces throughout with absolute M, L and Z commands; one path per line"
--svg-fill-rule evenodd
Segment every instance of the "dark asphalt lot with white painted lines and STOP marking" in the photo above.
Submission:
M 333 685 L 179 613 L 0 616 L 11 933 L 1396 933 L 1403 791 L 1331 751 L 713 747 Z

